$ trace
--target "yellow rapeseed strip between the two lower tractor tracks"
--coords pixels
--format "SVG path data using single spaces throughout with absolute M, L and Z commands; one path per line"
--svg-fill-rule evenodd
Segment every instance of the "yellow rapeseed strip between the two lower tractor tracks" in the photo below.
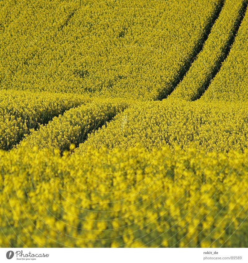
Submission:
M 65 150 L 73 150 L 74 147 L 78 147 L 79 143 L 86 140 L 89 133 L 102 127 L 129 105 L 131 101 L 126 99 L 96 99 L 54 117 L 47 125 L 41 125 L 18 147 L 57 148 L 61 154 Z M 71 144 L 74 144 L 73 148 L 70 147 Z

